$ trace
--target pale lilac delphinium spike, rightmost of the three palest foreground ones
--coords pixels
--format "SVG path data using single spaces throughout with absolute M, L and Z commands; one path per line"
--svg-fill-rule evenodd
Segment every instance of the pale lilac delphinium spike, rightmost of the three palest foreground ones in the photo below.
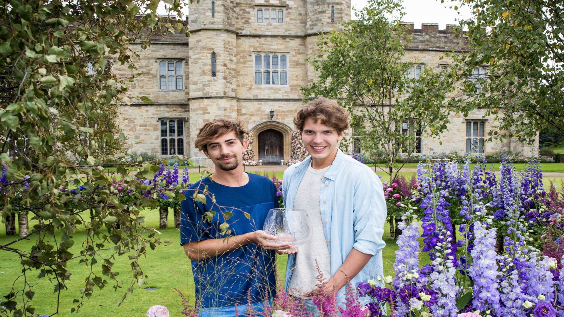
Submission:
M 496 228 L 486 229 L 482 223 L 474 222 L 474 249 L 471 252 L 472 266 L 468 276 L 474 281 L 472 305 L 475 309 L 496 310 L 499 308 L 500 275 L 495 252 Z

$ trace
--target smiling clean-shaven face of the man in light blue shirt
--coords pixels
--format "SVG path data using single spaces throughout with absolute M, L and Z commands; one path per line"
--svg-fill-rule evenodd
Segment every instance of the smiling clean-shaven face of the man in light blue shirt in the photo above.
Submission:
M 334 127 L 314 121 L 311 117 L 303 122 L 303 130 L 300 139 L 303 146 L 310 153 L 314 168 L 324 168 L 332 164 L 337 155 L 337 144 L 345 136 L 345 131 L 338 133 Z

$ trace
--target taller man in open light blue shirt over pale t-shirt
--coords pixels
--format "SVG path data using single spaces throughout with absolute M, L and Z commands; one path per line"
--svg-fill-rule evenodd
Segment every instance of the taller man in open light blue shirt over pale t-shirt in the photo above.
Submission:
M 294 124 L 310 156 L 284 172 L 284 206 L 306 210 L 313 219 L 314 238 L 299 246 L 297 253 L 288 255 L 285 285 L 287 289 L 289 285 L 299 285 L 299 297 L 319 293 L 319 288 L 311 285 L 311 268 L 315 270 L 317 261 L 324 271 L 325 262 L 325 271 L 329 273 L 324 275 L 325 285 L 337 292 L 337 303 L 342 303 L 349 280 L 356 288 L 361 281 L 384 275 L 384 190 L 368 166 L 337 148 L 349 127 L 349 115 L 336 102 L 323 97 L 313 100 L 297 113 Z M 319 173 L 320 170 L 324 171 Z M 323 239 L 327 249 L 323 241 L 309 245 L 315 244 L 316 239 L 317 243 Z M 298 277 L 293 277 L 294 273 Z M 319 314 L 310 300 L 306 306 Z

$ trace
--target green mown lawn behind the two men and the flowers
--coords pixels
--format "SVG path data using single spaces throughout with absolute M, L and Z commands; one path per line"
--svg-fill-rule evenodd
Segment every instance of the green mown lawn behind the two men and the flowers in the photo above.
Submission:
M 158 211 L 147 210 L 144 213 L 146 217 L 146 225 L 158 227 Z M 172 212 L 169 213 L 169 224 L 174 223 Z M 33 226 L 33 223 L 30 223 Z M 386 226 L 386 228 L 389 226 Z M 174 288 L 180 289 L 187 296 L 190 302 L 194 301 L 194 283 L 191 272 L 190 261 L 184 250 L 179 244 L 180 232 L 176 228 L 169 228 L 166 230 L 159 230 L 162 235 L 161 241 L 169 239 L 171 241 L 168 245 L 157 246 L 155 250 L 148 251 L 146 258 L 140 259 L 140 265 L 143 270 L 148 274 L 147 285 L 143 288 L 134 286 L 133 294 L 129 295 L 122 306 L 117 306 L 121 301 L 121 297 L 126 292 L 127 287 L 131 281 L 130 262 L 126 256 L 116 257 L 114 260 L 114 271 L 119 271 L 120 275 L 118 280 L 122 283 L 123 288 L 118 288 L 114 291 L 112 283 L 109 283 L 103 290 L 95 288 L 94 293 L 90 300 L 85 300 L 86 305 L 73 316 L 142 316 L 152 305 L 167 306 L 171 312 L 171 316 L 180 316 L 182 311 L 182 304 L 180 297 L 175 292 Z M 17 236 L 6 236 L 5 226 L 0 225 L 0 244 L 6 244 Z M 386 229 L 384 234 L 384 241 L 386 248 L 382 251 L 384 259 L 384 270 L 386 275 L 393 275 L 393 263 L 395 259 L 395 250 L 398 246 L 395 241 L 389 239 L 390 234 Z M 59 237 L 58 237 L 59 238 Z M 77 230 L 74 234 L 76 243 L 71 248 L 71 252 L 79 254 L 81 249 L 81 241 L 85 240 L 86 233 L 83 230 Z M 33 245 L 34 237 L 31 240 L 22 240 L 14 245 L 23 250 L 29 250 Z M 426 257 L 426 255 L 424 256 Z M 21 274 L 21 267 L 19 264 L 17 254 L 12 252 L 2 252 L 2 261 L 0 262 L 0 295 L 10 292 L 11 285 L 14 279 Z M 279 276 L 284 281 L 286 256 L 277 257 L 277 267 Z M 423 264 L 428 263 L 422 261 Z M 70 309 L 74 307 L 73 299 L 80 296 L 80 290 L 83 288 L 83 281 L 89 273 L 89 267 L 78 263 L 78 259 L 74 259 L 68 263 L 68 269 L 72 272 L 70 281 L 67 282 L 67 290 L 61 292 L 60 298 L 60 316 L 72 316 Z M 99 265 L 95 266 L 95 273 L 101 275 L 101 268 Z M 56 311 L 56 293 L 54 290 L 54 283 L 51 283 L 46 278 L 37 279 L 38 271 L 28 271 L 27 280 L 33 285 L 33 290 L 36 292 L 33 303 L 36 307 L 36 312 L 41 314 L 52 314 Z M 105 276 L 102 276 L 105 278 Z M 23 285 L 20 280 L 14 284 L 16 289 L 19 285 Z M 144 288 L 155 287 L 157 290 L 147 291 Z

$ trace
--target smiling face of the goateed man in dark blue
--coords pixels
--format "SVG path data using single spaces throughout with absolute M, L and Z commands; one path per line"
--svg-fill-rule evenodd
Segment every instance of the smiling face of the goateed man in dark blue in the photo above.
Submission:
M 213 164 L 224 171 L 234 170 L 243 162 L 243 152 L 247 148 L 247 141 L 243 143 L 235 132 L 229 132 L 213 138 L 206 146 L 204 154 Z

